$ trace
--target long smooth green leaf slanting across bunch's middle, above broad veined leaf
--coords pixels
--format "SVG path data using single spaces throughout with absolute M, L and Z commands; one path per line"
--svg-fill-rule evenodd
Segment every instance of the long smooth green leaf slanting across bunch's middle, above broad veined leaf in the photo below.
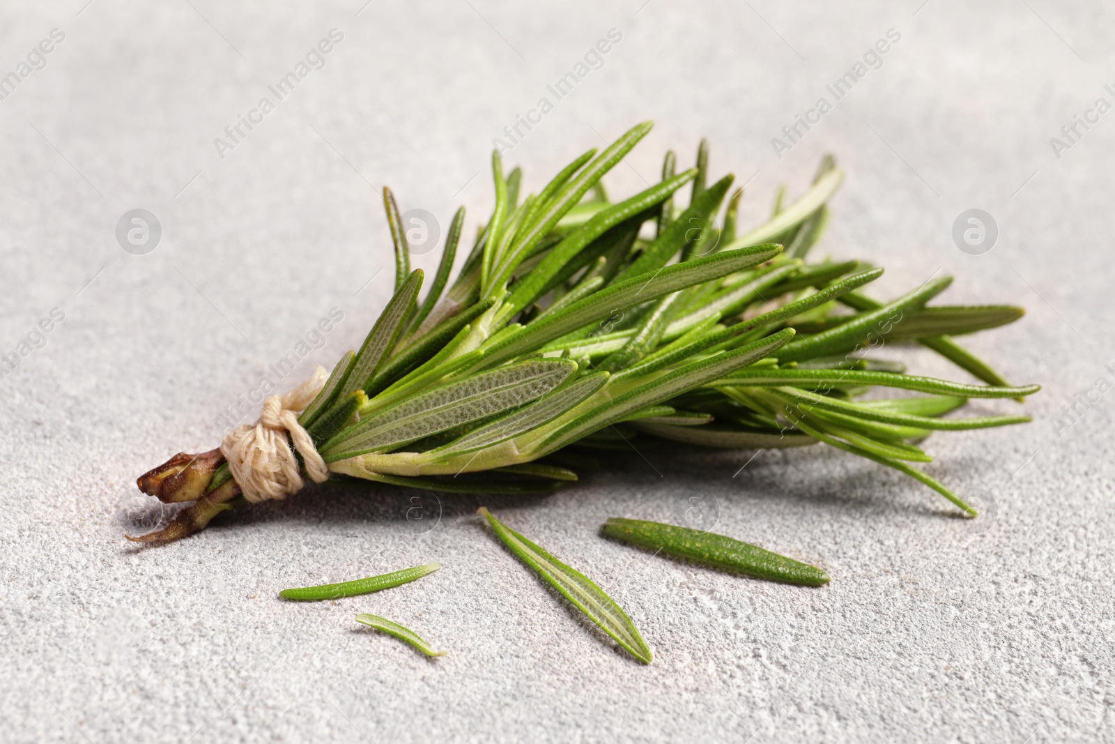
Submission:
M 739 251 L 725 251 L 687 263 L 666 267 L 651 277 L 632 277 L 617 282 L 592 297 L 574 302 L 561 312 L 539 318 L 518 332 L 508 335 L 486 349 L 487 366 L 533 351 L 547 341 L 603 320 L 613 312 L 656 300 L 686 287 L 719 279 L 778 254 L 777 245 L 756 245 Z

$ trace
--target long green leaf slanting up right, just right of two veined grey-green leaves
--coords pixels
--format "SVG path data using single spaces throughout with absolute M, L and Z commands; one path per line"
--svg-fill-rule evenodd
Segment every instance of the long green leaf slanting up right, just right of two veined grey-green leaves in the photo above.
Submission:
M 787 328 L 748 346 L 726 351 L 710 359 L 694 361 L 672 373 L 644 383 L 614 399 L 590 410 L 569 422 L 537 445 L 542 454 L 560 450 L 588 434 L 613 423 L 627 414 L 652 406 L 680 395 L 718 377 L 746 367 L 773 351 L 782 348 L 794 337 L 794 330 Z

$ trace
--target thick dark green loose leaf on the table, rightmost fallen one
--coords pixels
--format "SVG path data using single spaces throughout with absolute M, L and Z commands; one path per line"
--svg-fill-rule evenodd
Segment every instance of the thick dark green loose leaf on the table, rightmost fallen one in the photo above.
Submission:
M 803 587 L 822 587 L 830 581 L 828 574 L 816 567 L 723 534 L 615 516 L 604 522 L 603 533 L 668 555 L 770 581 Z

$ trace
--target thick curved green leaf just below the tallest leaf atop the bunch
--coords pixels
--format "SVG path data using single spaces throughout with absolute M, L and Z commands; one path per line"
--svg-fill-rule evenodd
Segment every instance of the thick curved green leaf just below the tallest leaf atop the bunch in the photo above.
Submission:
M 591 242 L 612 228 L 631 218 L 647 212 L 662 200 L 667 199 L 686 182 L 691 180 L 696 171 L 685 173 L 660 184 L 656 184 L 631 199 L 609 206 L 598 212 L 591 220 L 571 232 L 560 242 L 542 262 L 530 271 L 524 279 L 515 284 L 514 291 L 500 311 L 501 317 L 511 318 L 527 305 L 536 300 L 552 286 L 551 280 L 561 272 L 578 253 Z

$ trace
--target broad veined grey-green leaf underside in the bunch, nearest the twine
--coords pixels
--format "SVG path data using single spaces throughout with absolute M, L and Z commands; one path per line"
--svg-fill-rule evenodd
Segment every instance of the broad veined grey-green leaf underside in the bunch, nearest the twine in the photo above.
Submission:
M 530 403 L 575 370 L 573 361 L 544 359 L 473 375 L 360 421 L 327 442 L 321 454 L 336 462 L 414 442 Z

